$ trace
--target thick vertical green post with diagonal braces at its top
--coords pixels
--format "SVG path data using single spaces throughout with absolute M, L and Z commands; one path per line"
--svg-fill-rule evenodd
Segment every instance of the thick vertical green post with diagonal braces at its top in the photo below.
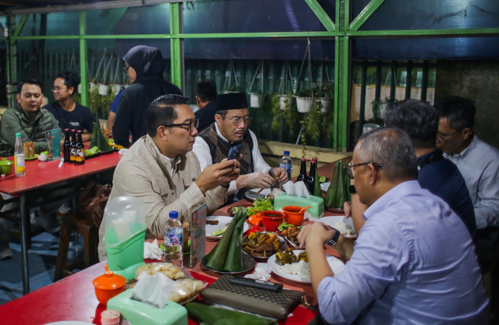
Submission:
M 336 26 L 348 30 L 350 1 L 336 1 Z M 346 152 L 350 89 L 350 37 L 334 37 L 334 142 L 333 149 Z

